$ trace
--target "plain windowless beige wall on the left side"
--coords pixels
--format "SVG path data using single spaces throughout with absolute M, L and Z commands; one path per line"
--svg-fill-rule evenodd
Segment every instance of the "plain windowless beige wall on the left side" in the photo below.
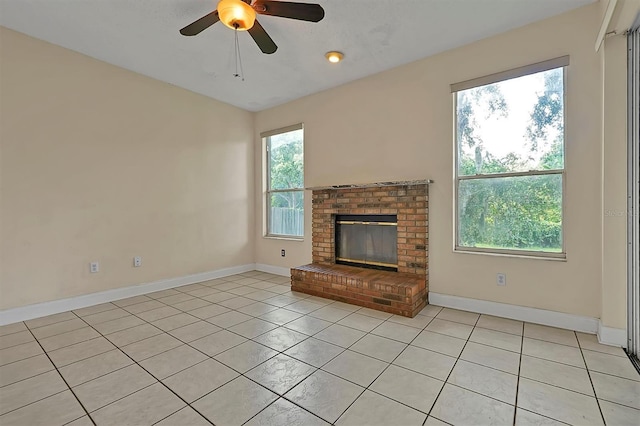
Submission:
M 253 114 L 3 28 L 0 55 L 0 309 L 253 263 Z

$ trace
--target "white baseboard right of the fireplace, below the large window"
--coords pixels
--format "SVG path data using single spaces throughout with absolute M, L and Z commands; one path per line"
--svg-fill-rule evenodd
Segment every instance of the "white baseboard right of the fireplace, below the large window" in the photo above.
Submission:
M 429 292 L 429 303 L 463 311 L 494 315 L 551 327 L 566 328 L 568 330 L 581 331 L 589 334 L 597 333 L 600 322 L 598 318 L 433 292 Z

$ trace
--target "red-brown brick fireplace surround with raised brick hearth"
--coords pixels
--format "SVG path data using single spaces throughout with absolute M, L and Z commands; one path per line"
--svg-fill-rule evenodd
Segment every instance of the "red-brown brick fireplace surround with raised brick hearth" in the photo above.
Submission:
M 291 289 L 413 317 L 428 300 L 429 181 L 312 190 L 312 260 L 291 269 Z M 397 272 L 336 264 L 336 216 L 397 217 Z

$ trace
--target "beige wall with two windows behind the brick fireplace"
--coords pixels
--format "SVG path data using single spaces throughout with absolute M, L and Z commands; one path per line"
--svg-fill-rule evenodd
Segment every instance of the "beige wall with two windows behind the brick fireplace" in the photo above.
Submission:
M 594 42 L 597 3 L 451 50 L 256 115 L 259 133 L 303 122 L 307 186 L 435 181 L 429 195 L 430 290 L 590 317 L 600 317 L 602 276 L 602 67 Z M 570 55 L 566 107 L 567 261 L 454 253 L 453 105 L 449 85 Z M 348 67 L 347 59 L 339 66 Z M 261 205 L 260 177 L 256 203 Z M 307 197 L 310 198 L 310 197 Z M 310 205 L 304 242 L 262 238 L 256 261 L 284 267 L 311 260 Z M 286 248 L 288 256 L 279 256 Z M 507 286 L 496 286 L 496 273 Z M 620 295 L 616 295 L 619 298 Z M 621 327 L 618 319 L 613 326 Z

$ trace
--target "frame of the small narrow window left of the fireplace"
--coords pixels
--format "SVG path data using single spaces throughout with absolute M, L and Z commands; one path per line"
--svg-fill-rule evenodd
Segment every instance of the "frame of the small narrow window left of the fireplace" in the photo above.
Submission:
M 296 130 L 302 130 L 302 167 L 303 167 L 303 172 L 302 172 L 302 187 L 301 188 L 287 188 L 287 189 L 271 189 L 271 137 L 272 136 L 277 136 L 283 133 L 289 133 L 289 132 L 293 132 Z M 282 240 L 294 240 L 294 241 L 302 241 L 304 240 L 304 232 L 305 232 L 305 227 L 304 227 L 304 222 L 303 222 L 303 227 L 302 227 L 302 235 L 291 235 L 291 234 L 276 234 L 276 233 L 272 233 L 271 232 L 271 195 L 275 194 L 275 193 L 283 193 L 283 192 L 299 192 L 302 194 L 302 212 L 303 212 L 303 218 L 305 216 L 305 207 L 304 207 L 304 163 L 305 163 L 305 159 L 304 159 L 304 125 L 303 123 L 299 123 L 299 124 L 294 124 L 291 126 L 287 126 L 287 127 L 281 127 L 278 129 L 274 129 L 274 130 L 269 130 L 266 132 L 262 132 L 260 134 L 260 137 L 262 139 L 262 145 L 263 145 L 263 150 L 262 152 L 264 153 L 264 185 L 263 185 L 263 189 L 264 189 L 264 198 L 263 198 L 263 202 L 264 202 L 264 222 L 263 222 L 263 237 L 264 238 L 273 238 L 273 239 L 282 239 Z M 304 220 L 304 219 L 303 219 Z

